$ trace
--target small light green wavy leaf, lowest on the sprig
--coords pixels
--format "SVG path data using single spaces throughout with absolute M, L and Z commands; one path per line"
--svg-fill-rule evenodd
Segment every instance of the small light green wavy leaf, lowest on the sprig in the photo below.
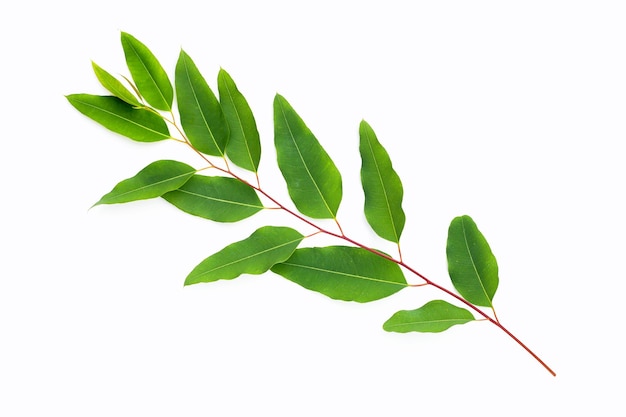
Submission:
M 388 332 L 438 333 L 457 324 L 473 321 L 472 313 L 443 300 L 434 300 L 416 310 L 402 310 L 383 324 Z

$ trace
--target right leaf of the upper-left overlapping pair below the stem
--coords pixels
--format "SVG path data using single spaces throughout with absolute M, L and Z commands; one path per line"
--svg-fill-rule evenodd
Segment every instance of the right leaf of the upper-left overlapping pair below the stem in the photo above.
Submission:
M 194 175 L 163 198 L 186 213 L 217 222 L 237 222 L 263 209 L 254 189 L 230 177 Z

